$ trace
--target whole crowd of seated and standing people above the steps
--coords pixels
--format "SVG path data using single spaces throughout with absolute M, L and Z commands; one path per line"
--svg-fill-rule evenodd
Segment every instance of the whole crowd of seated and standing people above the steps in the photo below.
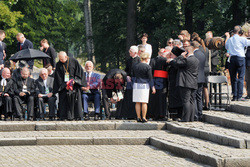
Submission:
M 249 72 L 249 63 L 245 62 L 250 60 L 250 40 L 246 38 L 250 30 L 243 34 L 241 31 L 240 26 L 235 26 L 232 37 L 225 34 L 232 100 L 237 101 L 249 98 L 242 95 L 245 70 L 247 75 Z M 100 119 L 103 112 L 106 119 L 164 121 L 169 112 L 175 121 L 202 121 L 202 110 L 209 108 L 207 77 L 218 73 L 218 50 L 208 49 L 197 33 L 190 35 L 187 30 L 182 30 L 178 39 L 170 38 L 154 58 L 151 58 L 152 46 L 147 43 L 148 35 L 144 33 L 142 44 L 130 47 L 125 70 L 112 69 L 104 77 L 93 71 L 91 61 L 85 63 L 84 72 L 75 58 L 64 51 L 57 54 L 43 39 L 40 50 L 50 58 L 43 59 L 44 68 L 36 80 L 31 76 L 33 59 L 20 61 L 14 70 L 5 63 L 4 38 L 5 32 L 0 30 L 0 107 L 4 120 L 45 120 L 45 103 L 49 120 L 89 120 L 91 101 L 94 120 Z M 16 38 L 17 51 L 33 48 L 22 33 Z M 211 31 L 206 38 L 213 38 Z M 250 81 L 246 81 L 250 90 Z M 110 104 L 116 104 L 115 115 Z

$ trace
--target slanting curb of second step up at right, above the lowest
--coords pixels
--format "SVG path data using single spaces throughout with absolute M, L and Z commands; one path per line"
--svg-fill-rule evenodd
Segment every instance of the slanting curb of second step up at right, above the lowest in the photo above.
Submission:
M 246 144 L 247 140 L 244 140 L 244 139 L 239 139 L 239 138 L 235 138 L 231 136 L 225 136 L 225 135 L 221 135 L 218 133 L 201 130 L 198 128 L 182 127 L 182 126 L 170 123 L 170 122 L 166 123 L 166 128 L 167 130 L 173 133 L 193 136 L 196 138 L 209 140 L 209 141 L 221 144 L 221 145 L 233 146 L 236 148 L 247 148 L 247 144 Z

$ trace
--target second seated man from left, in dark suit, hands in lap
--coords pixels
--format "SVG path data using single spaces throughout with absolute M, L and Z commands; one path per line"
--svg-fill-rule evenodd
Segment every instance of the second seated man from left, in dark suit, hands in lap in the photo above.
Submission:
M 23 67 L 21 77 L 17 78 L 14 84 L 14 106 L 19 120 L 23 120 L 21 104 L 27 103 L 28 120 L 33 120 L 34 116 L 34 95 L 35 80 L 30 78 L 30 70 Z

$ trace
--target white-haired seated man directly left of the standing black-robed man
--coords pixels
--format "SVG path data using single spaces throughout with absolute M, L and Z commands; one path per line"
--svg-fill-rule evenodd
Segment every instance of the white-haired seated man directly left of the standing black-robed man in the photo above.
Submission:
M 52 94 L 54 78 L 48 76 L 48 70 L 42 68 L 36 83 L 36 94 L 38 97 L 37 117 L 44 119 L 44 103 L 49 105 L 49 120 L 55 119 L 56 96 Z

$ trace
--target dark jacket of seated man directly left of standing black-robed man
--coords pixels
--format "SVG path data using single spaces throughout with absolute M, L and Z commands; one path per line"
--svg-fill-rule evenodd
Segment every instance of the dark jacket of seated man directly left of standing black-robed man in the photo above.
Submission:
M 36 94 L 45 94 L 45 85 L 43 82 L 43 79 L 39 77 L 36 81 Z M 53 84 L 54 84 L 54 78 L 48 77 L 47 78 L 47 87 L 49 88 L 49 92 L 51 93 L 53 91 Z

